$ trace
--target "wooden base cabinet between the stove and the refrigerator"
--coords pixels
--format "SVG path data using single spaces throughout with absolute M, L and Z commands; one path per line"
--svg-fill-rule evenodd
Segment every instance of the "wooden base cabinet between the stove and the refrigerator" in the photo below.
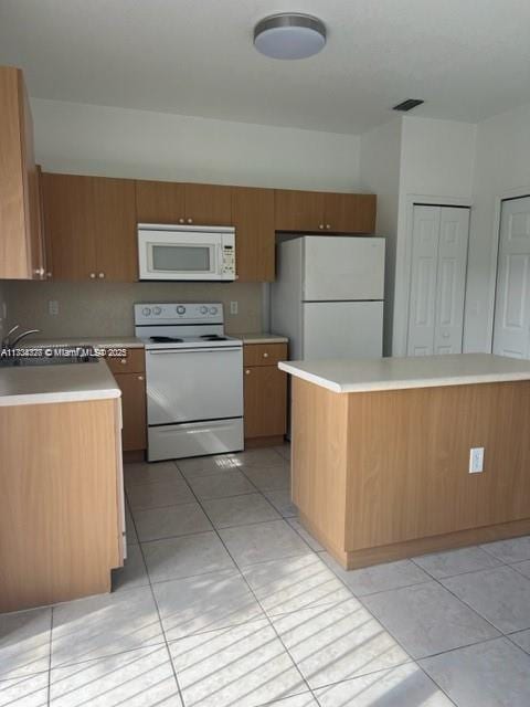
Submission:
M 287 346 L 272 345 L 276 356 L 268 365 L 255 363 L 244 368 L 245 444 L 250 446 L 278 443 L 287 430 L 287 376 L 277 361 L 287 358 Z M 256 361 L 263 345 L 245 345 L 245 361 Z

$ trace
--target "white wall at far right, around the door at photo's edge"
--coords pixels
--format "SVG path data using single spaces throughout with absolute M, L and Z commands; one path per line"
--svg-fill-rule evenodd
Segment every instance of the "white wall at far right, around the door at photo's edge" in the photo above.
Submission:
M 477 126 L 464 347 L 491 346 L 500 199 L 530 194 L 530 105 Z

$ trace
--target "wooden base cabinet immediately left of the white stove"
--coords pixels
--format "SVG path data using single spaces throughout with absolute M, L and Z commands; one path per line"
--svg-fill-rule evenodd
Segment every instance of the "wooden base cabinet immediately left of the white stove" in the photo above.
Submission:
M 121 445 L 124 452 L 147 449 L 146 359 L 144 349 L 127 349 L 124 358 L 107 363 L 121 391 Z M 128 457 L 129 458 L 129 457 Z

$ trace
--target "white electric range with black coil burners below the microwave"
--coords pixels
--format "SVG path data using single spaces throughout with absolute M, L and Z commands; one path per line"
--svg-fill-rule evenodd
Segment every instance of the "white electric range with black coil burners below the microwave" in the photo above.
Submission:
M 243 450 L 243 344 L 220 303 L 135 305 L 146 348 L 149 462 Z

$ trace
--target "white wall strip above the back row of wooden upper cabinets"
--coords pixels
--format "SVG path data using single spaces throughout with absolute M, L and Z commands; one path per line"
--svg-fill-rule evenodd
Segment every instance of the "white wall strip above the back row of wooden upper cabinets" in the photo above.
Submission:
M 356 191 L 360 138 L 294 128 L 32 99 L 36 157 L 50 171 Z

